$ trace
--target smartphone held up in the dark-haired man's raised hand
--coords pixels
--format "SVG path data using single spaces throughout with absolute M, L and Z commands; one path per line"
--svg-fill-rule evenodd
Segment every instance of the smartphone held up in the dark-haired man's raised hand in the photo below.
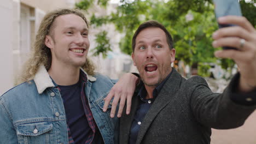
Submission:
M 213 3 L 214 3 L 214 11 L 215 11 L 216 19 L 226 15 L 242 16 L 241 8 L 240 8 L 240 4 L 238 3 L 238 0 L 213 0 Z M 236 25 L 233 25 L 231 23 L 228 25 L 219 24 L 219 28 L 230 27 L 230 26 L 236 26 Z M 226 49 L 236 49 L 236 48 L 224 46 L 223 49 L 226 50 Z

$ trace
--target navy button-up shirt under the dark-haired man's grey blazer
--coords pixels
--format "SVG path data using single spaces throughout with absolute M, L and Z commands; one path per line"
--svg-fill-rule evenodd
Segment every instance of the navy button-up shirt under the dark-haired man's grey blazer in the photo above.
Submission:
M 153 104 L 155 98 L 158 96 L 160 93 L 162 86 L 164 86 L 165 82 L 168 80 L 168 78 L 171 76 L 171 73 L 165 78 L 164 81 L 162 81 L 153 91 L 153 99 L 146 99 L 147 96 L 147 91 L 145 86 L 143 85 L 141 89 L 139 90 L 138 97 L 140 99 L 139 105 L 136 110 L 135 117 L 133 118 L 132 125 L 131 125 L 131 131 L 130 131 L 130 140 L 129 143 L 133 144 L 136 143 L 137 136 L 138 136 L 138 131 L 139 128 L 141 127 L 143 118 L 146 116 L 148 113 L 148 110 L 150 106 Z

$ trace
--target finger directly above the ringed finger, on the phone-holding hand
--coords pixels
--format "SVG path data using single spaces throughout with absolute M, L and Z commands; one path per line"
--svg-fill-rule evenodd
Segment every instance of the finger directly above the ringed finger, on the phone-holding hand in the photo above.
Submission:
M 239 37 L 247 41 L 253 40 L 248 31 L 238 26 L 220 28 L 212 35 L 212 38 L 215 40 L 223 37 Z

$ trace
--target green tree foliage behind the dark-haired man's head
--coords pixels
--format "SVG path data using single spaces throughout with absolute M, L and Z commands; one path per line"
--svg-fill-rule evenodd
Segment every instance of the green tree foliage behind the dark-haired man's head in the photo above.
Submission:
M 243 16 L 247 17 L 253 26 L 256 26 L 255 1 L 240 1 Z M 83 0 L 76 6 L 88 10 L 93 3 L 106 7 L 108 0 Z M 132 35 L 139 24 L 147 20 L 156 20 L 171 33 L 176 48 L 176 59 L 183 60 L 189 65 L 217 60 L 213 55 L 215 49 L 211 45 L 212 33 L 218 29 L 211 0 L 120 0 L 115 13 L 102 17 L 92 15 L 90 20 L 95 26 L 114 23 L 117 31 L 125 34 L 120 41 L 120 49 L 129 55 L 132 52 Z M 106 42 L 106 39 L 103 41 Z M 101 44 L 99 46 L 96 54 L 110 50 L 108 46 L 104 47 Z M 221 62 L 224 69 L 234 66 L 234 62 L 230 59 Z M 206 68 L 203 67 L 202 71 Z

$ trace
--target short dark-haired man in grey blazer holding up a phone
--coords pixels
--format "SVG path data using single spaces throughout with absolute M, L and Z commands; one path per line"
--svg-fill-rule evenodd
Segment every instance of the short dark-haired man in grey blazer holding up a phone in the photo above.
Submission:
M 241 126 L 256 108 L 256 31 L 244 17 L 226 16 L 213 46 L 237 50 L 215 55 L 234 59 L 240 71 L 223 93 L 213 93 L 200 76 L 184 79 L 171 63 L 170 33 L 156 21 L 142 23 L 132 38 L 132 59 L 142 82 L 132 98 L 130 115 L 120 119 L 120 143 L 210 143 L 211 128 Z

